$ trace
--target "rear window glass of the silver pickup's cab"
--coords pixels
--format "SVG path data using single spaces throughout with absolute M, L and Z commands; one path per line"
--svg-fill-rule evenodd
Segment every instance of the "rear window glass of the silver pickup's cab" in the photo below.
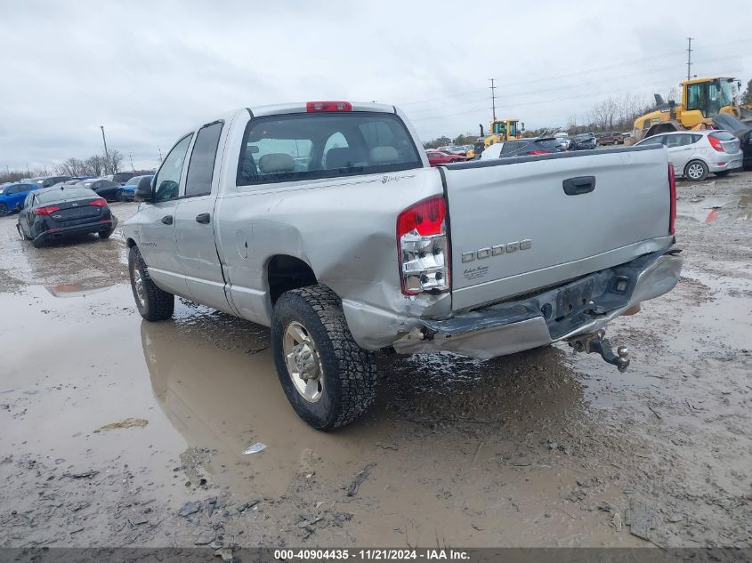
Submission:
M 238 185 L 387 173 L 422 166 L 394 114 L 322 112 L 257 117 L 240 149 Z

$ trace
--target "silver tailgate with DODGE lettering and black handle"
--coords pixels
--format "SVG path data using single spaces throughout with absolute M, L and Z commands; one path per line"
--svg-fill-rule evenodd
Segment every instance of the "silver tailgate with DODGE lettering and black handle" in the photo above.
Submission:
M 449 165 L 452 309 L 610 268 L 671 243 L 666 150 Z

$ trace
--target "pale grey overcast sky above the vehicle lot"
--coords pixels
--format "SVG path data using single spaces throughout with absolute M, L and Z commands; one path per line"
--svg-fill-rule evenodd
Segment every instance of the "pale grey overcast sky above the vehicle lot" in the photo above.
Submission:
M 746 84 L 751 25 L 749 0 L 0 0 L 0 167 L 101 152 L 100 125 L 128 167 L 151 167 L 193 125 L 285 101 L 394 103 L 424 140 L 477 133 L 491 77 L 497 116 L 565 125 L 677 85 L 687 36 L 692 74 Z

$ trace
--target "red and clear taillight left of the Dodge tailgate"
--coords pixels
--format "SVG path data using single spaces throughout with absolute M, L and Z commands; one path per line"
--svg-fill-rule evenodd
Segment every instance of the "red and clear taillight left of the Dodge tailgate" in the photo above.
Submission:
M 441 196 L 411 205 L 397 217 L 402 293 L 449 291 L 447 203 Z

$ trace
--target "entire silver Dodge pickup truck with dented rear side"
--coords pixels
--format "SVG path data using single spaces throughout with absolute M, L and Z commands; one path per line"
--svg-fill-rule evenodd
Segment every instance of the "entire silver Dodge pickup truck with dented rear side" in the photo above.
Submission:
M 563 340 L 624 370 L 603 327 L 682 263 L 662 147 L 432 168 L 381 104 L 240 109 L 185 133 L 135 197 L 142 317 L 180 295 L 271 326 L 279 381 L 319 430 L 368 409 L 387 347 L 492 358 Z

